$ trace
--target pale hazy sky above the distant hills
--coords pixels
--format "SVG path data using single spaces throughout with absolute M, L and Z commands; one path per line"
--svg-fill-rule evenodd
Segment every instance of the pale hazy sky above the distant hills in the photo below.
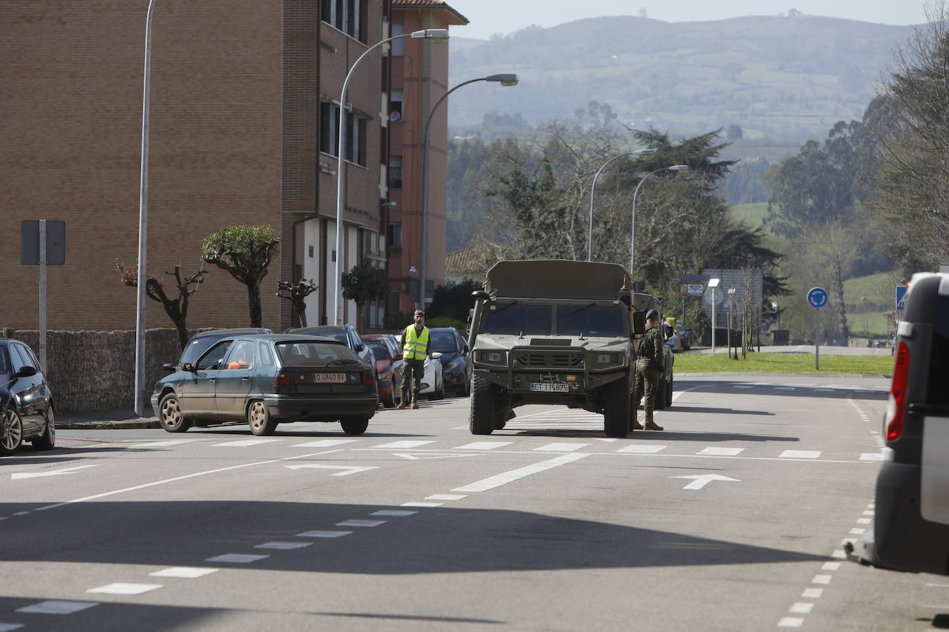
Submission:
M 932 0 L 930 0 L 931 2 Z M 641 15 L 663 22 L 705 22 L 746 15 L 778 15 L 797 9 L 808 15 L 861 20 L 887 25 L 926 22 L 926 0 L 447 0 L 468 18 L 467 27 L 452 27 L 457 37 L 488 39 L 537 25 L 604 15 Z

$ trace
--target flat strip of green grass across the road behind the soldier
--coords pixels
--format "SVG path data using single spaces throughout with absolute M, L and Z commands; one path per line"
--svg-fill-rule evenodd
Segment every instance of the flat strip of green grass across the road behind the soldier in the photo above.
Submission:
M 821 369 L 814 369 L 813 353 L 748 353 L 744 360 L 728 358 L 727 350 L 711 353 L 677 353 L 676 373 L 853 373 L 890 375 L 893 358 L 887 355 L 821 354 Z

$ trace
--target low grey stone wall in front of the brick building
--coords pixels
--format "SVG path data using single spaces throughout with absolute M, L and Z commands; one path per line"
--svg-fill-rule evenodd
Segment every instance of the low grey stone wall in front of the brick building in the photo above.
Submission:
M 27 343 L 39 357 L 39 332 L 7 330 L 6 334 Z M 176 330 L 146 332 L 145 386 L 149 394 L 158 378 L 168 374 L 161 365 L 176 362 L 180 354 Z M 134 331 L 47 332 L 47 365 L 47 381 L 60 414 L 135 407 Z

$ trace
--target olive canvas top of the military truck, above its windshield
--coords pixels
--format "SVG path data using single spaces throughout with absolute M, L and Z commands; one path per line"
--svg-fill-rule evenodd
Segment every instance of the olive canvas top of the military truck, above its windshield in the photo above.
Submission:
M 619 263 L 510 261 L 488 270 L 484 289 L 492 298 L 616 300 L 628 279 Z

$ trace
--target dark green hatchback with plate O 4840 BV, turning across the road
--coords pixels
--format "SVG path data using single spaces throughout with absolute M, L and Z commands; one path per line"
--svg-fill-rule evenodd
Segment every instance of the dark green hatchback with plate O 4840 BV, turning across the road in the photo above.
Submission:
M 340 422 L 346 434 L 360 435 L 379 406 L 375 372 L 332 338 L 225 336 L 172 370 L 152 393 L 168 432 L 184 432 L 195 421 L 246 420 L 255 435 L 288 422 Z

